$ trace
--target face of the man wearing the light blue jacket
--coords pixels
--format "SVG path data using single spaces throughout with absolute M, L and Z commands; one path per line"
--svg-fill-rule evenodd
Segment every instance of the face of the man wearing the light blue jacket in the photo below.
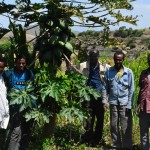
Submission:
M 124 61 L 124 57 L 123 57 L 122 54 L 119 54 L 119 55 L 116 54 L 116 55 L 114 56 L 114 63 L 115 63 L 115 67 L 116 67 L 117 69 L 120 69 L 120 68 L 122 67 L 123 61 Z

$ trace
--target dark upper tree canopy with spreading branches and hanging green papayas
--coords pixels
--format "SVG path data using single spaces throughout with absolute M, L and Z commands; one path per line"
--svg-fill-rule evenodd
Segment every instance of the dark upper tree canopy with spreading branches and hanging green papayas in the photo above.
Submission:
M 43 3 L 32 3 L 30 0 L 16 0 L 16 5 L 1 2 L 0 13 L 7 12 L 15 20 L 23 21 L 24 27 L 34 23 L 38 24 L 40 34 L 36 37 L 37 42 L 34 50 L 40 52 L 40 64 L 43 65 L 44 62 L 47 62 L 54 67 L 58 67 L 63 54 L 69 57 L 74 50 L 74 47 L 69 42 L 71 37 L 75 37 L 75 34 L 71 31 L 71 26 L 101 27 L 104 29 L 104 34 L 100 38 L 100 43 L 104 46 L 109 45 L 109 26 L 117 25 L 121 21 L 136 24 L 137 16 L 124 16 L 118 11 L 120 9 L 132 10 L 133 7 L 130 4 L 132 1 L 90 0 L 86 2 L 61 2 L 59 0 L 44 0 Z M 99 16 L 95 15 L 98 13 L 100 14 Z M 20 25 L 17 26 L 16 22 L 13 24 L 10 21 L 10 30 L 15 35 L 15 40 L 11 39 L 12 49 L 15 50 L 12 54 L 17 55 L 22 53 L 23 50 L 28 55 L 24 28 Z M 19 29 L 17 30 L 16 27 Z M 89 31 L 87 34 L 89 36 L 91 34 L 96 37 L 99 36 L 98 32 L 93 31 Z M 20 45 L 21 40 L 22 45 Z M 16 49 L 19 51 L 16 51 Z M 29 58 L 29 56 L 27 57 Z

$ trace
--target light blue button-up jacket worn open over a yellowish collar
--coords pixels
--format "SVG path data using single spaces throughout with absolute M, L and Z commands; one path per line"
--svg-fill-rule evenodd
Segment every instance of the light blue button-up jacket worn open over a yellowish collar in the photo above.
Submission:
M 104 87 L 108 94 L 108 102 L 113 105 L 125 105 L 131 109 L 134 97 L 134 78 L 132 70 L 123 66 L 123 74 L 118 80 L 117 70 L 110 67 L 104 78 Z

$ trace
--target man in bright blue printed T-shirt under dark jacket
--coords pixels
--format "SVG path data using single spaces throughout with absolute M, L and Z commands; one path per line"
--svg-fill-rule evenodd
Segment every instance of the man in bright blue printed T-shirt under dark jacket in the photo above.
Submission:
M 33 80 L 34 75 L 31 70 L 26 67 L 26 58 L 19 55 L 16 58 L 14 68 L 6 71 L 3 75 L 8 91 L 12 88 L 24 90 L 25 83 Z M 30 134 L 30 122 L 26 122 L 22 113 L 19 112 L 17 105 L 10 106 L 10 132 L 8 136 L 8 150 L 22 150 L 28 146 Z

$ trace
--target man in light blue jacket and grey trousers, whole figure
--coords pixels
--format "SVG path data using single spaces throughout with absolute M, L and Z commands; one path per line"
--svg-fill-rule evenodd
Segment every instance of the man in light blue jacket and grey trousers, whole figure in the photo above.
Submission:
M 134 79 L 132 71 L 123 66 L 122 51 L 114 54 L 114 66 L 105 73 L 104 85 L 110 104 L 110 127 L 115 149 L 132 149 L 132 105 Z M 121 126 L 121 135 L 120 127 Z M 121 140 L 122 137 L 122 140 Z

